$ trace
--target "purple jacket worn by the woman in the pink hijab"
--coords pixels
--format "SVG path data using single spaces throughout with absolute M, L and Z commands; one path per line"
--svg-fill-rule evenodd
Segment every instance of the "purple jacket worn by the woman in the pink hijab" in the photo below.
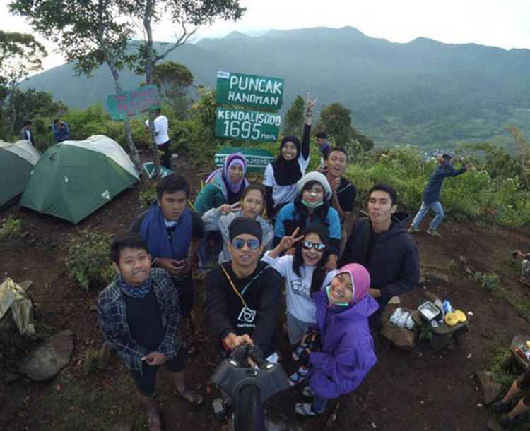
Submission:
M 368 316 L 377 302 L 366 295 L 346 308 L 331 305 L 325 289 L 312 294 L 317 305 L 317 326 L 322 351 L 310 354 L 310 388 L 314 394 L 334 399 L 349 394 L 377 362 Z

